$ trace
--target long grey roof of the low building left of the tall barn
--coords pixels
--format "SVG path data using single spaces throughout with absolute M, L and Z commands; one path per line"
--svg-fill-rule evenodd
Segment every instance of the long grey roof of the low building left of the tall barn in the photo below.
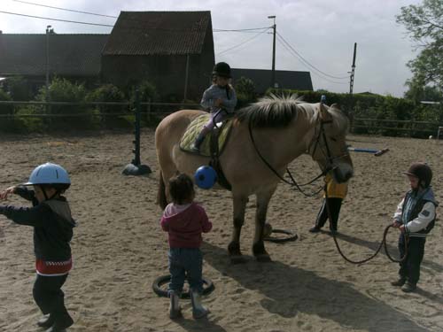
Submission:
M 109 35 L 49 35 L 51 74 L 100 73 L 101 53 Z M 0 34 L 0 75 L 44 75 L 46 35 Z

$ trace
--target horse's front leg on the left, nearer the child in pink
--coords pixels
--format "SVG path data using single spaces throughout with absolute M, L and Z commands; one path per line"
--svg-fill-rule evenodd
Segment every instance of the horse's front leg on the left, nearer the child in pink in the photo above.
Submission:
M 240 233 L 245 223 L 245 209 L 248 197 L 233 195 L 234 202 L 234 227 L 232 228 L 232 237 L 228 246 L 231 263 L 244 263 L 245 259 L 240 251 Z

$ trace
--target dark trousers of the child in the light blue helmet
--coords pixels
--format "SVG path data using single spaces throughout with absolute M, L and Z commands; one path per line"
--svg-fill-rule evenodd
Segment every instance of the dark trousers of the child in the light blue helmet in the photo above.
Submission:
M 67 274 L 45 276 L 37 274 L 32 290 L 35 303 L 43 314 L 51 313 L 54 317 L 68 315 L 65 307 L 65 293 L 61 290 Z

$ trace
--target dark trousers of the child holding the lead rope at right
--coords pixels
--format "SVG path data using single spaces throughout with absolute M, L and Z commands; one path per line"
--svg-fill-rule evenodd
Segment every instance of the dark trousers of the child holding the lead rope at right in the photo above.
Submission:
M 426 238 L 407 236 L 404 233 L 399 237 L 400 258 L 406 254 L 405 242 L 407 243 L 408 254 L 405 260 L 400 262 L 400 278 L 405 278 L 408 282 L 416 284 L 420 279 L 420 265 L 424 256 L 424 243 Z

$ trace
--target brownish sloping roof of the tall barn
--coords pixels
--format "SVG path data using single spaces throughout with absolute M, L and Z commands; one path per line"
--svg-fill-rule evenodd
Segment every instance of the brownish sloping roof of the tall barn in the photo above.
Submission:
M 120 12 L 104 55 L 199 54 L 211 12 Z

